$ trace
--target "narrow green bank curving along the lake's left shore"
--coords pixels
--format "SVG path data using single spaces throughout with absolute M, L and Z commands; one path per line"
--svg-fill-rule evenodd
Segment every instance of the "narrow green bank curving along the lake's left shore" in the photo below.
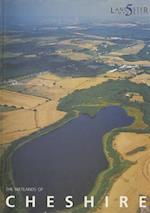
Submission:
M 11 157 L 13 153 L 23 146 L 25 143 L 30 142 L 32 139 L 35 139 L 39 136 L 42 136 L 50 131 L 55 131 L 55 129 L 63 126 L 64 124 L 68 123 L 72 119 L 76 118 L 78 116 L 78 112 L 70 112 L 68 113 L 63 119 L 60 121 L 56 122 L 53 125 L 48 126 L 47 128 L 44 128 L 38 132 L 32 133 L 31 135 L 25 136 L 21 139 L 18 139 L 14 141 L 10 147 L 2 154 L 0 157 L 0 168 L 2 170 L 1 176 L 0 176 L 0 189 L 3 193 L 3 195 L 7 195 L 6 192 L 6 187 L 15 187 L 14 179 L 13 179 L 13 171 L 12 171 L 12 164 L 11 164 Z M 23 209 L 22 206 L 22 195 L 19 192 L 13 192 L 16 196 L 19 197 L 19 202 L 18 202 L 18 208 L 15 210 L 15 213 L 20 213 L 18 209 L 21 209 L 22 213 L 26 213 L 27 211 Z M 12 210 L 13 211 L 13 210 Z M 8 212 L 7 208 L 4 207 L 4 212 Z

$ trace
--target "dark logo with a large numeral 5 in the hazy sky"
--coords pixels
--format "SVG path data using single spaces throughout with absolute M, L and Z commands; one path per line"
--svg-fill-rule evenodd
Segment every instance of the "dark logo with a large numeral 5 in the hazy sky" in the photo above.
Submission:
M 111 14 L 120 16 L 140 16 L 150 14 L 150 8 L 147 6 L 134 6 L 127 4 L 125 7 L 111 7 Z

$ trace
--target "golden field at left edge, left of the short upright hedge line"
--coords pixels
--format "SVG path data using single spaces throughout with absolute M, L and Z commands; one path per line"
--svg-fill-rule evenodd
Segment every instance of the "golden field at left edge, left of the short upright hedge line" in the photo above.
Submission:
M 35 112 L 32 110 L 1 112 L 1 116 L 0 144 L 10 143 L 39 129 L 36 127 Z

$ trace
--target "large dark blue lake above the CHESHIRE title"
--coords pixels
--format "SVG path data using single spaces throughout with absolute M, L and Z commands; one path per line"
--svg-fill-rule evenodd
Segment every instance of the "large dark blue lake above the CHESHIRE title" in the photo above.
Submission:
M 81 203 L 96 180 L 107 168 L 102 137 L 113 128 L 133 122 L 117 106 L 100 110 L 95 117 L 80 115 L 66 125 L 23 145 L 13 155 L 16 186 L 42 186 L 44 191 L 33 193 L 37 209 L 42 212 L 45 196 L 55 196 L 55 208 L 64 208 L 64 197 L 72 195 Z M 29 194 L 29 193 L 24 193 Z

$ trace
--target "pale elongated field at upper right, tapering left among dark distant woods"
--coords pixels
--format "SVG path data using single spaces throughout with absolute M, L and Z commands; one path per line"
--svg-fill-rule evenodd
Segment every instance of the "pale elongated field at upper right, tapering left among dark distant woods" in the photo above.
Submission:
M 111 52 L 109 55 L 122 56 L 122 55 L 137 54 L 140 50 L 142 50 L 144 48 L 144 46 L 145 46 L 144 42 L 143 41 L 139 41 L 135 45 L 120 49 L 118 51 Z

